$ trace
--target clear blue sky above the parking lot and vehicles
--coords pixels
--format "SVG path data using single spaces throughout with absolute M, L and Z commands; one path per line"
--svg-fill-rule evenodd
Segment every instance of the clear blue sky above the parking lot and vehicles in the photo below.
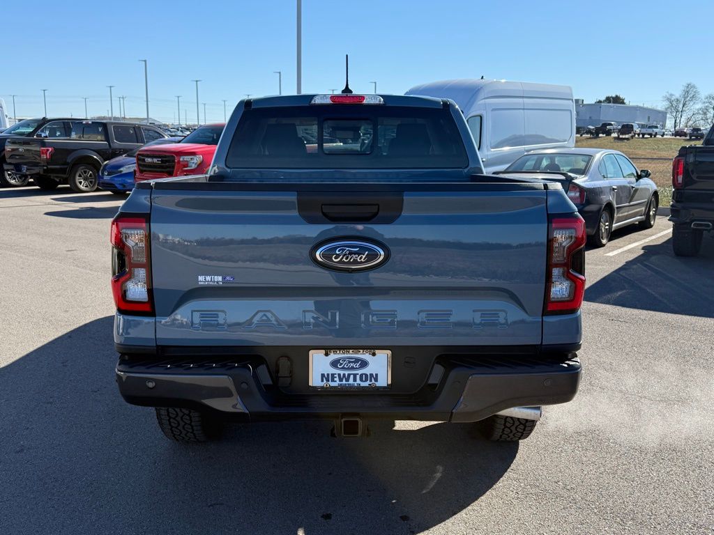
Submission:
M 151 116 L 196 118 L 192 78 L 208 121 L 251 93 L 296 90 L 295 0 L 3 2 L 0 97 L 18 116 L 84 116 L 109 110 L 108 85 L 126 95 L 126 112 L 143 116 L 149 60 Z M 71 6 L 71 8 L 70 8 Z M 620 93 L 658 106 L 665 91 L 696 83 L 714 92 L 706 24 L 714 2 L 303 0 L 303 93 L 351 86 L 403 93 L 448 78 L 562 83 L 593 101 Z M 695 21 L 707 21 L 698 24 Z M 608 38 L 608 39 L 606 39 Z M 201 104 L 201 121 L 203 105 Z

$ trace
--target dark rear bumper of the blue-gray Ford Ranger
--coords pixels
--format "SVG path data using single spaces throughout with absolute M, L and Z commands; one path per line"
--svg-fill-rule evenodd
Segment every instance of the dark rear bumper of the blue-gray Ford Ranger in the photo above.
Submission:
M 511 407 L 570 401 L 578 391 L 580 362 L 575 353 L 441 356 L 428 377 L 435 375 L 438 380 L 431 379 L 431 384 L 406 394 L 288 393 L 277 386 L 264 362 L 251 357 L 159 360 L 122 355 L 116 366 L 122 397 L 148 407 L 185 407 L 243 421 L 334 419 L 349 413 L 371 418 L 476 422 Z

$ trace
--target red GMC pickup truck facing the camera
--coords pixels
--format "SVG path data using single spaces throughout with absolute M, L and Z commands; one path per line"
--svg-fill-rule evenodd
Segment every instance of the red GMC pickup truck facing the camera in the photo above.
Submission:
M 196 128 L 178 143 L 153 145 L 136 153 L 134 180 L 150 180 L 169 176 L 202 175 L 211 165 L 225 124 Z

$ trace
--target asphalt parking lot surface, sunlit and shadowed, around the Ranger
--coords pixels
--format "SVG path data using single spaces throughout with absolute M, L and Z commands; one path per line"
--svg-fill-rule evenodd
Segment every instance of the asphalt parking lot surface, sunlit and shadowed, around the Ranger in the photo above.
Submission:
M 580 394 L 533 436 L 397 422 L 166 440 L 114 384 L 121 200 L 0 190 L 0 534 L 703 534 L 714 531 L 714 239 L 670 223 L 586 253 Z

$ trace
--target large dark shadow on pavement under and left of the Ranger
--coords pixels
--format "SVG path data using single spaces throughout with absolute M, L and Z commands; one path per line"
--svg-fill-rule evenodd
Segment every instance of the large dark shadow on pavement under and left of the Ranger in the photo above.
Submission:
M 368 439 L 248 424 L 174 444 L 119 396 L 111 330 L 94 320 L 0 368 L 0 533 L 412 534 L 473 504 L 518 452 L 456 424 Z

